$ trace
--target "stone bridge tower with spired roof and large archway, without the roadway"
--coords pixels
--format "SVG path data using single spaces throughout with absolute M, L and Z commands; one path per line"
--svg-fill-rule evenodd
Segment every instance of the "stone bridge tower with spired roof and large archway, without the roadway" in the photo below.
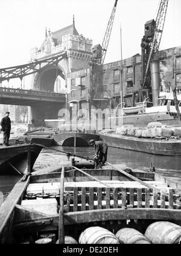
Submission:
M 48 57 L 66 56 L 56 64 L 45 65 L 39 73 L 31 75 L 32 90 L 48 91 L 55 93 L 71 93 L 71 82 L 68 73 L 89 68 L 89 61 L 92 57 L 92 40 L 84 38 L 75 28 L 75 20 L 68 27 L 55 32 L 49 29 L 45 31 L 45 40 L 38 49 L 31 49 L 31 62 L 47 59 Z M 57 119 L 58 112 L 67 107 L 67 102 L 60 105 L 34 105 L 29 107 L 29 114 L 34 120 Z M 30 110 L 31 109 L 31 110 Z

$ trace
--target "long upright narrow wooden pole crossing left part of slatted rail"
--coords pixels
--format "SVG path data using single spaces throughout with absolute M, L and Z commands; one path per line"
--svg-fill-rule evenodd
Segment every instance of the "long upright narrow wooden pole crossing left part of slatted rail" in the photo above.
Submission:
M 60 177 L 60 211 L 59 211 L 59 244 L 65 243 L 65 230 L 64 230 L 64 166 Z

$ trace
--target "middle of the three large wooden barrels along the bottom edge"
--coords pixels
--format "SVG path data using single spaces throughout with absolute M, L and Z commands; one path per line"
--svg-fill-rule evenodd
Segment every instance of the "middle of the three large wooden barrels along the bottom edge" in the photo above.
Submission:
M 116 237 L 119 239 L 119 243 L 125 244 L 150 244 L 150 241 L 136 229 L 122 228 L 116 233 Z

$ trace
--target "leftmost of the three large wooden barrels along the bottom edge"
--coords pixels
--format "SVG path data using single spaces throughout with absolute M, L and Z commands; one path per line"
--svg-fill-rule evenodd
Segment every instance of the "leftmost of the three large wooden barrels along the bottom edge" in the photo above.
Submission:
M 81 244 L 115 244 L 119 243 L 118 238 L 109 230 L 101 228 L 99 226 L 90 227 L 85 229 L 78 238 L 78 242 Z

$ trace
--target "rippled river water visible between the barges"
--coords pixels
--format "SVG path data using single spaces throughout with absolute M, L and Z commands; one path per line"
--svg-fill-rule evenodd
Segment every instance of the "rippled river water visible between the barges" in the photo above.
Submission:
M 91 146 L 74 148 L 70 146 L 54 146 L 60 151 L 74 153 L 78 156 L 93 157 L 94 148 Z M 42 149 L 35 164 L 34 171 L 51 166 L 53 168 L 57 163 L 62 162 L 62 159 L 67 159 L 66 155 L 54 151 L 53 149 Z M 173 177 L 173 179 L 181 182 L 181 157 L 158 156 L 153 154 L 130 151 L 120 148 L 109 147 L 107 153 L 107 162 L 112 164 L 126 165 L 130 168 L 147 170 L 150 169 L 150 163 L 155 167 L 156 172 L 165 176 Z M 2 193 L 5 196 L 11 191 L 14 184 L 19 180 L 19 176 L 0 176 L 0 201 L 2 202 Z M 1 203 L 0 202 L 0 203 Z

